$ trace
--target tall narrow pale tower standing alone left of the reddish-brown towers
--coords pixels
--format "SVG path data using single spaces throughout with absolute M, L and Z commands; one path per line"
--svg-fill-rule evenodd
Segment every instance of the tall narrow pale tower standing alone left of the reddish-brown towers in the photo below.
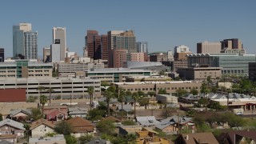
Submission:
M 53 28 L 53 44 L 60 45 L 60 61 L 65 61 L 66 56 L 66 27 Z M 55 56 L 54 56 L 55 57 Z

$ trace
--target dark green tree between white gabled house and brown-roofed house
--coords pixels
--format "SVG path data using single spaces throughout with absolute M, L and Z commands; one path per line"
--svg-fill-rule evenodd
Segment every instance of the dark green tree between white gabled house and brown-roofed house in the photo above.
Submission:
M 58 133 L 58 134 L 64 134 L 64 135 L 69 135 L 72 132 L 71 126 L 68 122 L 66 121 L 62 121 L 59 122 L 55 127 L 54 130 Z

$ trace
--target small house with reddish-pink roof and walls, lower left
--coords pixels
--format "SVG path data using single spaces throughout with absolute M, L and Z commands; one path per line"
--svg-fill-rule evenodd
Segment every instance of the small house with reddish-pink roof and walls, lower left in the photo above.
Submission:
M 45 106 L 43 114 L 47 120 L 62 121 L 67 118 L 67 106 Z

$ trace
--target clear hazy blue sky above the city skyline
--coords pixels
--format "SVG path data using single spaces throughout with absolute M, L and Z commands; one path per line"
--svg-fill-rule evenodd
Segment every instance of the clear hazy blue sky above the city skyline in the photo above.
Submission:
M 32 23 L 38 31 L 38 54 L 52 43 L 52 28 L 66 27 L 67 46 L 82 56 L 86 30 L 135 30 L 149 51 L 174 50 L 225 38 L 242 40 L 247 54 L 256 53 L 255 0 L 3 0 L 0 47 L 12 56 L 12 26 Z

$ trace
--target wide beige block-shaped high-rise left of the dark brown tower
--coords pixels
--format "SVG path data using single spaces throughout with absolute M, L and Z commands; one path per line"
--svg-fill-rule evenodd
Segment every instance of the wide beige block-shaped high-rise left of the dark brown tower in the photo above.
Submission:
M 198 54 L 216 54 L 222 50 L 221 42 L 199 42 L 197 43 Z

